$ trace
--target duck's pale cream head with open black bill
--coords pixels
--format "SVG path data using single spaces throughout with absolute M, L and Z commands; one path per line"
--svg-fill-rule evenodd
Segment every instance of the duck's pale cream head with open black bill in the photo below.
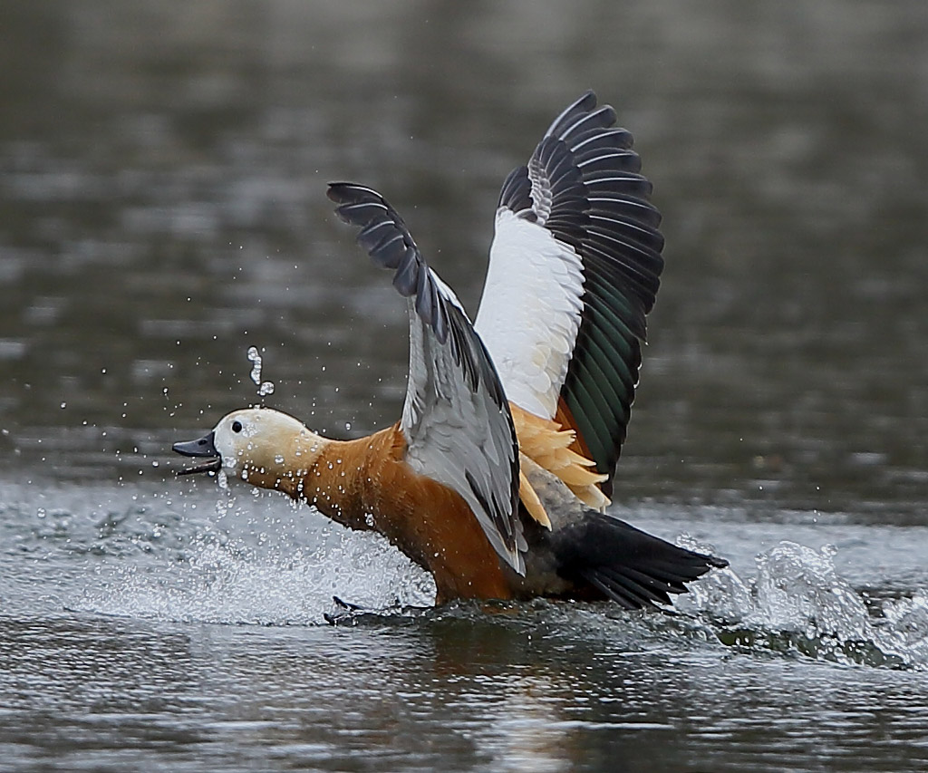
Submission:
M 243 408 L 224 416 L 199 440 L 175 443 L 185 457 L 203 458 L 179 474 L 218 472 L 264 488 L 302 477 L 327 441 L 303 422 L 273 408 Z

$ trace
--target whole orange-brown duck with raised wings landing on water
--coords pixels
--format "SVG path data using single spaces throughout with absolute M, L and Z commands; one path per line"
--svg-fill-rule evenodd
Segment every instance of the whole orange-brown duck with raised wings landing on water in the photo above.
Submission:
M 227 414 L 181 474 L 226 473 L 385 536 L 456 599 L 668 608 L 728 562 L 608 508 L 664 269 L 661 214 L 632 135 L 593 91 L 505 179 L 474 321 L 378 191 L 329 199 L 406 300 L 400 418 L 338 440 L 271 407 Z

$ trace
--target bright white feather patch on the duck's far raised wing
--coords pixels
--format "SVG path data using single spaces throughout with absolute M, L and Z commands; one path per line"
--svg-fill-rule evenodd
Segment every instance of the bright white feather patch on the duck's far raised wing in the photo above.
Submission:
M 474 328 L 493 358 L 506 394 L 553 419 L 583 311 L 583 264 L 547 228 L 496 211 L 480 310 Z

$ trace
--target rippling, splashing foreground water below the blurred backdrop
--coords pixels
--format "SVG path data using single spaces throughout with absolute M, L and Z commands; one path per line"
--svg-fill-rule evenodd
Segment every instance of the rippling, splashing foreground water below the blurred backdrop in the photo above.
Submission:
M 622 514 L 658 534 L 711 533 L 731 570 L 694 586 L 677 614 L 548 602 L 429 611 L 430 581 L 382 541 L 277 497 L 133 483 L 8 485 L 5 500 L 6 769 L 619 759 L 900 770 L 925 759 L 915 529 L 636 509 Z M 832 563 L 787 537 L 844 544 Z M 385 612 L 346 614 L 333 595 Z

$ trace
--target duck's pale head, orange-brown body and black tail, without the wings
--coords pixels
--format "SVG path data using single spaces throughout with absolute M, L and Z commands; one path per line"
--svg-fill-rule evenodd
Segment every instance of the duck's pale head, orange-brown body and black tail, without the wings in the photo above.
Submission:
M 400 424 L 351 441 L 329 440 L 270 408 L 226 415 L 213 432 L 175 444 L 218 457 L 190 471 L 226 470 L 316 506 L 352 529 L 376 531 L 432 573 L 436 602 L 452 599 L 616 599 L 638 609 L 724 561 L 677 548 L 589 509 L 599 475 L 567 449 L 573 432 L 513 411 L 520 441 L 517 529 L 524 574 L 483 531 L 466 500 L 407 461 Z M 522 442 L 524 440 L 524 442 Z M 534 504 L 533 504 L 534 502 Z

